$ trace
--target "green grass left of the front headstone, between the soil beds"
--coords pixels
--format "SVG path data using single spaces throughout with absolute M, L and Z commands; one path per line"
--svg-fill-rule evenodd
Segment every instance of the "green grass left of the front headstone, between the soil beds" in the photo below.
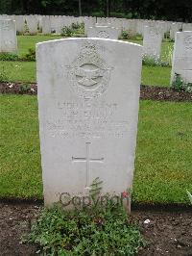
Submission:
M 36 97 L 0 96 L 0 195 L 42 196 Z

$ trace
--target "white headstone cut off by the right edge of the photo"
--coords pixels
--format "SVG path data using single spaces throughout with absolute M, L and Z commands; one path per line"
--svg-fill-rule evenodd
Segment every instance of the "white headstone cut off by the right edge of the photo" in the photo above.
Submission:
M 192 31 L 176 33 L 171 84 L 176 74 L 179 74 L 185 83 L 192 83 Z

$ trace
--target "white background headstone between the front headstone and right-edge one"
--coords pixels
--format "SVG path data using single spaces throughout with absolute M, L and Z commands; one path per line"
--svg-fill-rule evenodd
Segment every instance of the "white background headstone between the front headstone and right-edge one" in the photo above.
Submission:
M 159 59 L 162 42 L 162 32 L 155 27 L 145 26 L 143 37 L 144 56 Z

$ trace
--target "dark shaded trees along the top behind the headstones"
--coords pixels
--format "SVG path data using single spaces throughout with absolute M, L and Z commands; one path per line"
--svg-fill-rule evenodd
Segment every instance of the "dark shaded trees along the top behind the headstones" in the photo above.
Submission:
M 78 0 L 1 0 L 0 13 L 79 15 Z M 192 21 L 190 0 L 82 1 L 83 15 Z

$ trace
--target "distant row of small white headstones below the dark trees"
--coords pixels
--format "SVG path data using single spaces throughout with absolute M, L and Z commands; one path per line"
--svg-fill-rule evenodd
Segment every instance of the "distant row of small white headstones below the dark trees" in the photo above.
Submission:
M 12 19 L 16 22 L 17 32 L 23 34 L 26 31 L 26 25 L 29 33 L 36 34 L 39 31 L 42 34 L 51 32 L 61 33 L 64 26 L 70 26 L 72 23 L 84 23 L 85 36 L 87 28 L 98 24 L 111 24 L 112 27 L 127 31 L 130 36 L 144 35 L 144 27 L 161 28 L 163 33 L 170 33 L 170 38 L 174 39 L 176 32 L 192 31 L 192 23 L 182 23 L 173 21 L 145 20 L 145 19 L 126 19 L 116 17 L 91 17 L 91 16 L 65 16 L 65 15 L 0 15 L 0 19 Z

